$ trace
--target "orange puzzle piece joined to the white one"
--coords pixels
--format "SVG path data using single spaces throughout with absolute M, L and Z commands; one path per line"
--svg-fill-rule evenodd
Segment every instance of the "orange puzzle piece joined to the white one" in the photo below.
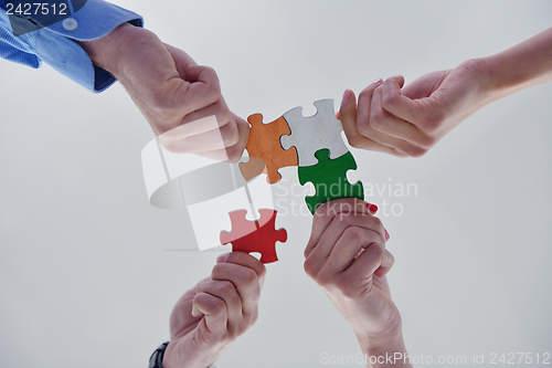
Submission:
M 297 166 L 297 150 L 295 148 L 285 150 L 280 145 L 280 136 L 289 135 L 289 126 L 284 117 L 264 124 L 263 115 L 253 114 L 247 117 L 247 122 L 252 125 L 250 129 L 250 140 L 245 146 L 250 154 L 250 161 L 240 164 L 242 172 L 248 172 L 247 177 L 255 175 L 258 171 L 258 161 L 252 161 L 251 158 L 256 157 L 266 165 L 267 180 L 269 183 L 276 183 L 282 180 L 282 175 L 278 172 L 279 168 L 286 166 Z M 252 165 L 256 165 L 253 167 Z M 262 172 L 262 171 L 261 171 Z M 261 172 L 257 172 L 261 174 Z M 245 175 L 244 175 L 245 177 Z M 246 178 L 247 179 L 247 178 Z

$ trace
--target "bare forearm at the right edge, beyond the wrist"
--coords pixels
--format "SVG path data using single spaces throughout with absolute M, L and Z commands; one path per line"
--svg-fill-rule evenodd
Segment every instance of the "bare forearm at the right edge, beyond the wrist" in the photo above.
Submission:
M 492 101 L 552 81 L 552 28 L 479 60 Z

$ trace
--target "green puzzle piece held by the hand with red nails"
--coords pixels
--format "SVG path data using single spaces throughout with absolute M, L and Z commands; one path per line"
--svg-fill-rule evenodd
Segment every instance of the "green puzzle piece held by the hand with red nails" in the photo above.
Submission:
M 315 214 L 318 206 L 339 198 L 359 198 L 364 200 L 364 187 L 361 181 L 355 185 L 347 180 L 347 171 L 357 169 L 357 162 L 351 153 L 336 159 L 330 159 L 327 148 L 315 154 L 318 164 L 314 166 L 299 166 L 299 182 L 301 186 L 308 181 L 315 185 L 316 194 L 305 198 L 305 202 Z

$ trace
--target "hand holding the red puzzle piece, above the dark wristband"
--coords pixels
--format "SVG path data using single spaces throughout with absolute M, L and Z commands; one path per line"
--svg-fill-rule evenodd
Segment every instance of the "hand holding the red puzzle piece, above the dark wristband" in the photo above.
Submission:
M 216 262 L 211 276 L 172 311 L 164 368 L 211 366 L 257 320 L 265 265 L 242 252 L 223 254 Z

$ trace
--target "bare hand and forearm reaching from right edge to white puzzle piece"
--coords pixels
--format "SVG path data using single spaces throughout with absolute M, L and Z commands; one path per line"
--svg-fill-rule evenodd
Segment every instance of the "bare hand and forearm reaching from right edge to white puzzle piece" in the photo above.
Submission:
M 484 106 L 550 81 L 552 29 L 405 87 L 402 76 L 375 81 L 360 93 L 358 106 L 348 90 L 339 115 L 353 147 L 420 157 Z

